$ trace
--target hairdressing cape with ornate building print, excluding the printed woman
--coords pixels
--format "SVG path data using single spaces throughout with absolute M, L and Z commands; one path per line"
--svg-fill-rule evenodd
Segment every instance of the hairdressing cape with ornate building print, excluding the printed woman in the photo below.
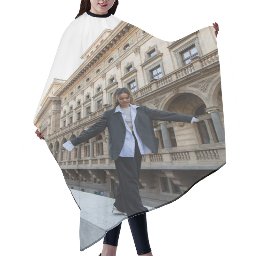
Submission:
M 61 38 L 34 120 L 81 210 L 80 250 L 127 216 L 112 213 L 119 182 L 108 129 L 70 152 L 62 145 L 99 121 L 121 87 L 131 89 L 138 105 L 200 120 L 152 120 L 158 154 L 142 156 L 139 183 L 149 211 L 175 201 L 225 164 L 214 29 L 166 42 L 112 14 L 85 12 Z

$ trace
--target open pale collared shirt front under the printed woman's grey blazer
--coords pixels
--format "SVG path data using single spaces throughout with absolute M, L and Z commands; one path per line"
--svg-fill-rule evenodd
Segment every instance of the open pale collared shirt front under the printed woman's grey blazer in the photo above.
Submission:
M 142 143 L 138 133 L 136 132 L 136 127 L 135 127 L 135 124 L 134 124 L 134 120 L 135 120 L 135 117 L 137 115 L 136 108 L 139 108 L 140 106 L 135 106 L 135 105 L 132 105 L 132 104 L 129 104 L 129 105 L 131 106 L 131 116 L 132 116 L 133 132 L 134 132 L 134 135 L 135 135 L 135 137 L 136 137 L 136 139 L 138 141 L 138 146 L 139 146 L 139 149 L 140 149 L 140 154 L 143 155 L 143 154 L 151 153 L 152 151 L 146 145 L 144 145 Z M 126 115 L 125 115 L 124 111 L 121 110 L 120 105 L 118 105 L 116 107 L 115 113 L 116 112 L 121 112 L 122 113 L 122 117 L 124 119 L 124 124 L 125 124 L 125 128 L 126 128 L 124 146 L 123 146 L 119 156 L 134 157 L 135 139 L 134 139 L 134 137 L 132 135 L 132 130 L 130 129 L 128 124 L 125 122 Z

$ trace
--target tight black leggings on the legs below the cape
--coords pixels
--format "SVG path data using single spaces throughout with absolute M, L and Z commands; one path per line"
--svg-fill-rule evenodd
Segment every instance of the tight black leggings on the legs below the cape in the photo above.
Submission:
M 151 252 L 148 241 L 148 229 L 146 213 L 128 218 L 128 222 L 132 231 L 133 241 L 137 250 L 137 254 L 145 254 Z M 103 244 L 117 246 L 122 222 L 115 228 L 109 230 L 104 237 Z

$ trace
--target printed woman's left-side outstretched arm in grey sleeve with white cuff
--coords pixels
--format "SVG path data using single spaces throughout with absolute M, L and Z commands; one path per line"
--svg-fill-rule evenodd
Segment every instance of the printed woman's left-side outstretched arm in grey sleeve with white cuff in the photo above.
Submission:
M 83 132 L 81 135 L 77 136 L 72 140 L 68 140 L 63 144 L 63 147 L 68 151 L 71 151 L 76 145 L 83 143 L 84 141 L 90 140 L 94 136 L 98 135 L 100 132 L 104 131 L 107 127 L 108 115 L 106 112 L 103 113 L 101 119 L 93 124 L 87 131 Z

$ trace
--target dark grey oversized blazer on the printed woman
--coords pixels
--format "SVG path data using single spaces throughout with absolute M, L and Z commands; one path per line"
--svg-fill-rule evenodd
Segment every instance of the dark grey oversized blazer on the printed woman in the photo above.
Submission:
M 71 143 L 74 146 L 83 143 L 108 127 L 110 158 L 111 160 L 116 160 L 124 145 L 126 128 L 122 113 L 115 113 L 115 109 L 112 108 L 105 111 L 96 124 L 93 124 L 87 131 L 70 140 Z M 190 123 L 193 118 L 193 116 L 151 109 L 146 106 L 140 106 L 136 110 L 137 115 L 134 120 L 136 131 L 142 142 L 155 154 L 158 153 L 158 138 L 155 136 L 152 120 Z

